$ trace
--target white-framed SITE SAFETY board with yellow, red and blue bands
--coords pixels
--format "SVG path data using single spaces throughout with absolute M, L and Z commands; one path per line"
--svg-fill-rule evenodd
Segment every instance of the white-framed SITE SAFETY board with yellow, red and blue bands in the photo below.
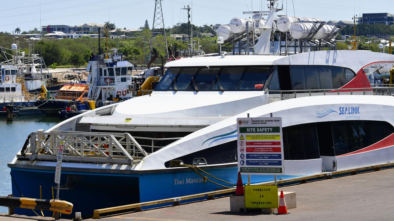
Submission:
M 238 171 L 283 175 L 282 118 L 237 118 Z

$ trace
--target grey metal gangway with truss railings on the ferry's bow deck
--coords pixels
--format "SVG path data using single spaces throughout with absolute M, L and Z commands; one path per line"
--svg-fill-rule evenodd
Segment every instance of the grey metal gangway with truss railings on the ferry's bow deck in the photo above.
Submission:
M 140 145 L 136 139 L 152 140 L 152 145 Z M 52 131 L 33 132 L 26 140 L 18 158 L 53 160 L 58 157 L 63 143 L 63 161 L 133 164 L 161 149 L 153 140 L 178 140 L 180 138 L 143 138 L 129 133 L 96 133 Z

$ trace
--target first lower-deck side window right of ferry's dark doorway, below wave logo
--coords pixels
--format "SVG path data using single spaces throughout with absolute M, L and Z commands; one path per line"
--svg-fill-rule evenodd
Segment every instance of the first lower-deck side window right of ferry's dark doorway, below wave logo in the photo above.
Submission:
M 331 122 L 331 128 L 333 130 L 335 155 L 349 153 L 345 123 L 342 121 L 333 121 Z

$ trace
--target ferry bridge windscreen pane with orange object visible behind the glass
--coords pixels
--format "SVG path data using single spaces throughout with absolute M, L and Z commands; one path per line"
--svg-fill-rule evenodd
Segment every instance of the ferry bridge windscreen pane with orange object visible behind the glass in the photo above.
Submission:
M 243 74 L 238 90 L 262 90 L 272 67 L 249 67 Z

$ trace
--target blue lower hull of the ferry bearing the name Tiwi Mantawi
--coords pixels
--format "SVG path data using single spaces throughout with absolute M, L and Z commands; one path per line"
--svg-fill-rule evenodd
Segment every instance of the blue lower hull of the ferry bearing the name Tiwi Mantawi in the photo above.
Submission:
M 214 168 L 206 171 L 231 183 L 237 181 L 238 168 L 236 167 Z M 39 187 L 42 186 L 43 199 L 52 199 L 51 188 L 56 187 L 53 170 L 11 168 L 11 176 L 14 196 L 20 197 L 20 190 L 24 197 L 39 198 Z M 296 176 L 280 176 L 278 179 L 282 177 L 287 179 Z M 245 184 L 247 176 L 243 176 L 242 179 Z M 273 176 L 251 176 L 252 183 L 271 180 Z M 62 168 L 61 185 L 66 182 L 68 188 L 60 189 L 60 199 L 74 204 L 73 213 L 82 212 L 84 217 L 93 215 L 95 209 L 180 197 L 223 188 L 209 181 L 204 183 L 203 179 L 191 170 L 130 174 L 84 173 Z M 230 186 L 223 182 L 218 183 Z M 163 206 L 163 204 L 158 206 Z M 15 208 L 15 213 L 34 215 L 32 210 L 21 208 Z M 52 215 L 48 211 L 44 214 Z M 63 214 L 62 217 L 72 218 L 73 214 Z

